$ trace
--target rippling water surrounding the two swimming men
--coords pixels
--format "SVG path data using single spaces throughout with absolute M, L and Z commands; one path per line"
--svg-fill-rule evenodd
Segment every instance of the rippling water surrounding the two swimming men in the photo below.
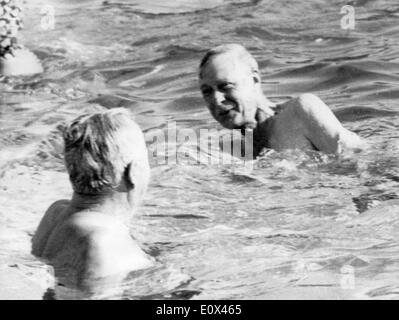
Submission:
M 32 180 L 42 205 L 28 229 L 42 207 L 69 195 L 57 125 L 125 107 L 147 137 L 171 121 L 221 129 L 200 97 L 197 66 L 207 48 L 236 42 L 258 60 L 272 101 L 315 93 L 370 148 L 340 158 L 271 152 L 252 171 L 152 161 L 132 233 L 159 266 L 132 275 L 122 297 L 399 297 L 397 1 L 58 0 L 47 31 L 45 3 L 25 3 L 23 41 L 46 72 L 1 84 L 0 169 L 63 179 L 53 194 Z M 340 27 L 345 4 L 355 7 L 354 30 Z

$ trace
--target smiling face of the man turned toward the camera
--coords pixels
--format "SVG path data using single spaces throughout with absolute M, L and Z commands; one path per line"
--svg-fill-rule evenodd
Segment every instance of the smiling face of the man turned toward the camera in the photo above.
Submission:
M 259 86 L 250 67 L 229 54 L 213 56 L 202 70 L 200 88 L 212 116 L 228 129 L 253 129 Z

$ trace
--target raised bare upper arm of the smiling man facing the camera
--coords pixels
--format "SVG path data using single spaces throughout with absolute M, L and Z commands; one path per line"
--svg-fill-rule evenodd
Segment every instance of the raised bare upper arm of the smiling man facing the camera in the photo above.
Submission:
M 317 96 L 303 94 L 296 99 L 296 116 L 301 119 L 305 137 L 319 151 L 339 153 L 341 148 L 361 148 L 364 142 L 345 129 L 331 109 Z

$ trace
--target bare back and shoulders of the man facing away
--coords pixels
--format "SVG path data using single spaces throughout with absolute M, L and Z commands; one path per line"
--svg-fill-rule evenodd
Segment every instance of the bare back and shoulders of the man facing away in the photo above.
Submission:
M 46 212 L 32 253 L 53 265 L 57 278 L 76 287 L 152 265 L 123 223 L 100 212 L 71 212 L 67 202 Z

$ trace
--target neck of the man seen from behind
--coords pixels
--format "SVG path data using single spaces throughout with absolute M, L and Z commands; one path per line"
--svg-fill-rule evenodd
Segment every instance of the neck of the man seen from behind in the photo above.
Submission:
M 134 212 L 126 192 L 106 192 L 102 194 L 81 194 L 74 192 L 69 208 L 73 212 L 96 211 L 126 220 Z

